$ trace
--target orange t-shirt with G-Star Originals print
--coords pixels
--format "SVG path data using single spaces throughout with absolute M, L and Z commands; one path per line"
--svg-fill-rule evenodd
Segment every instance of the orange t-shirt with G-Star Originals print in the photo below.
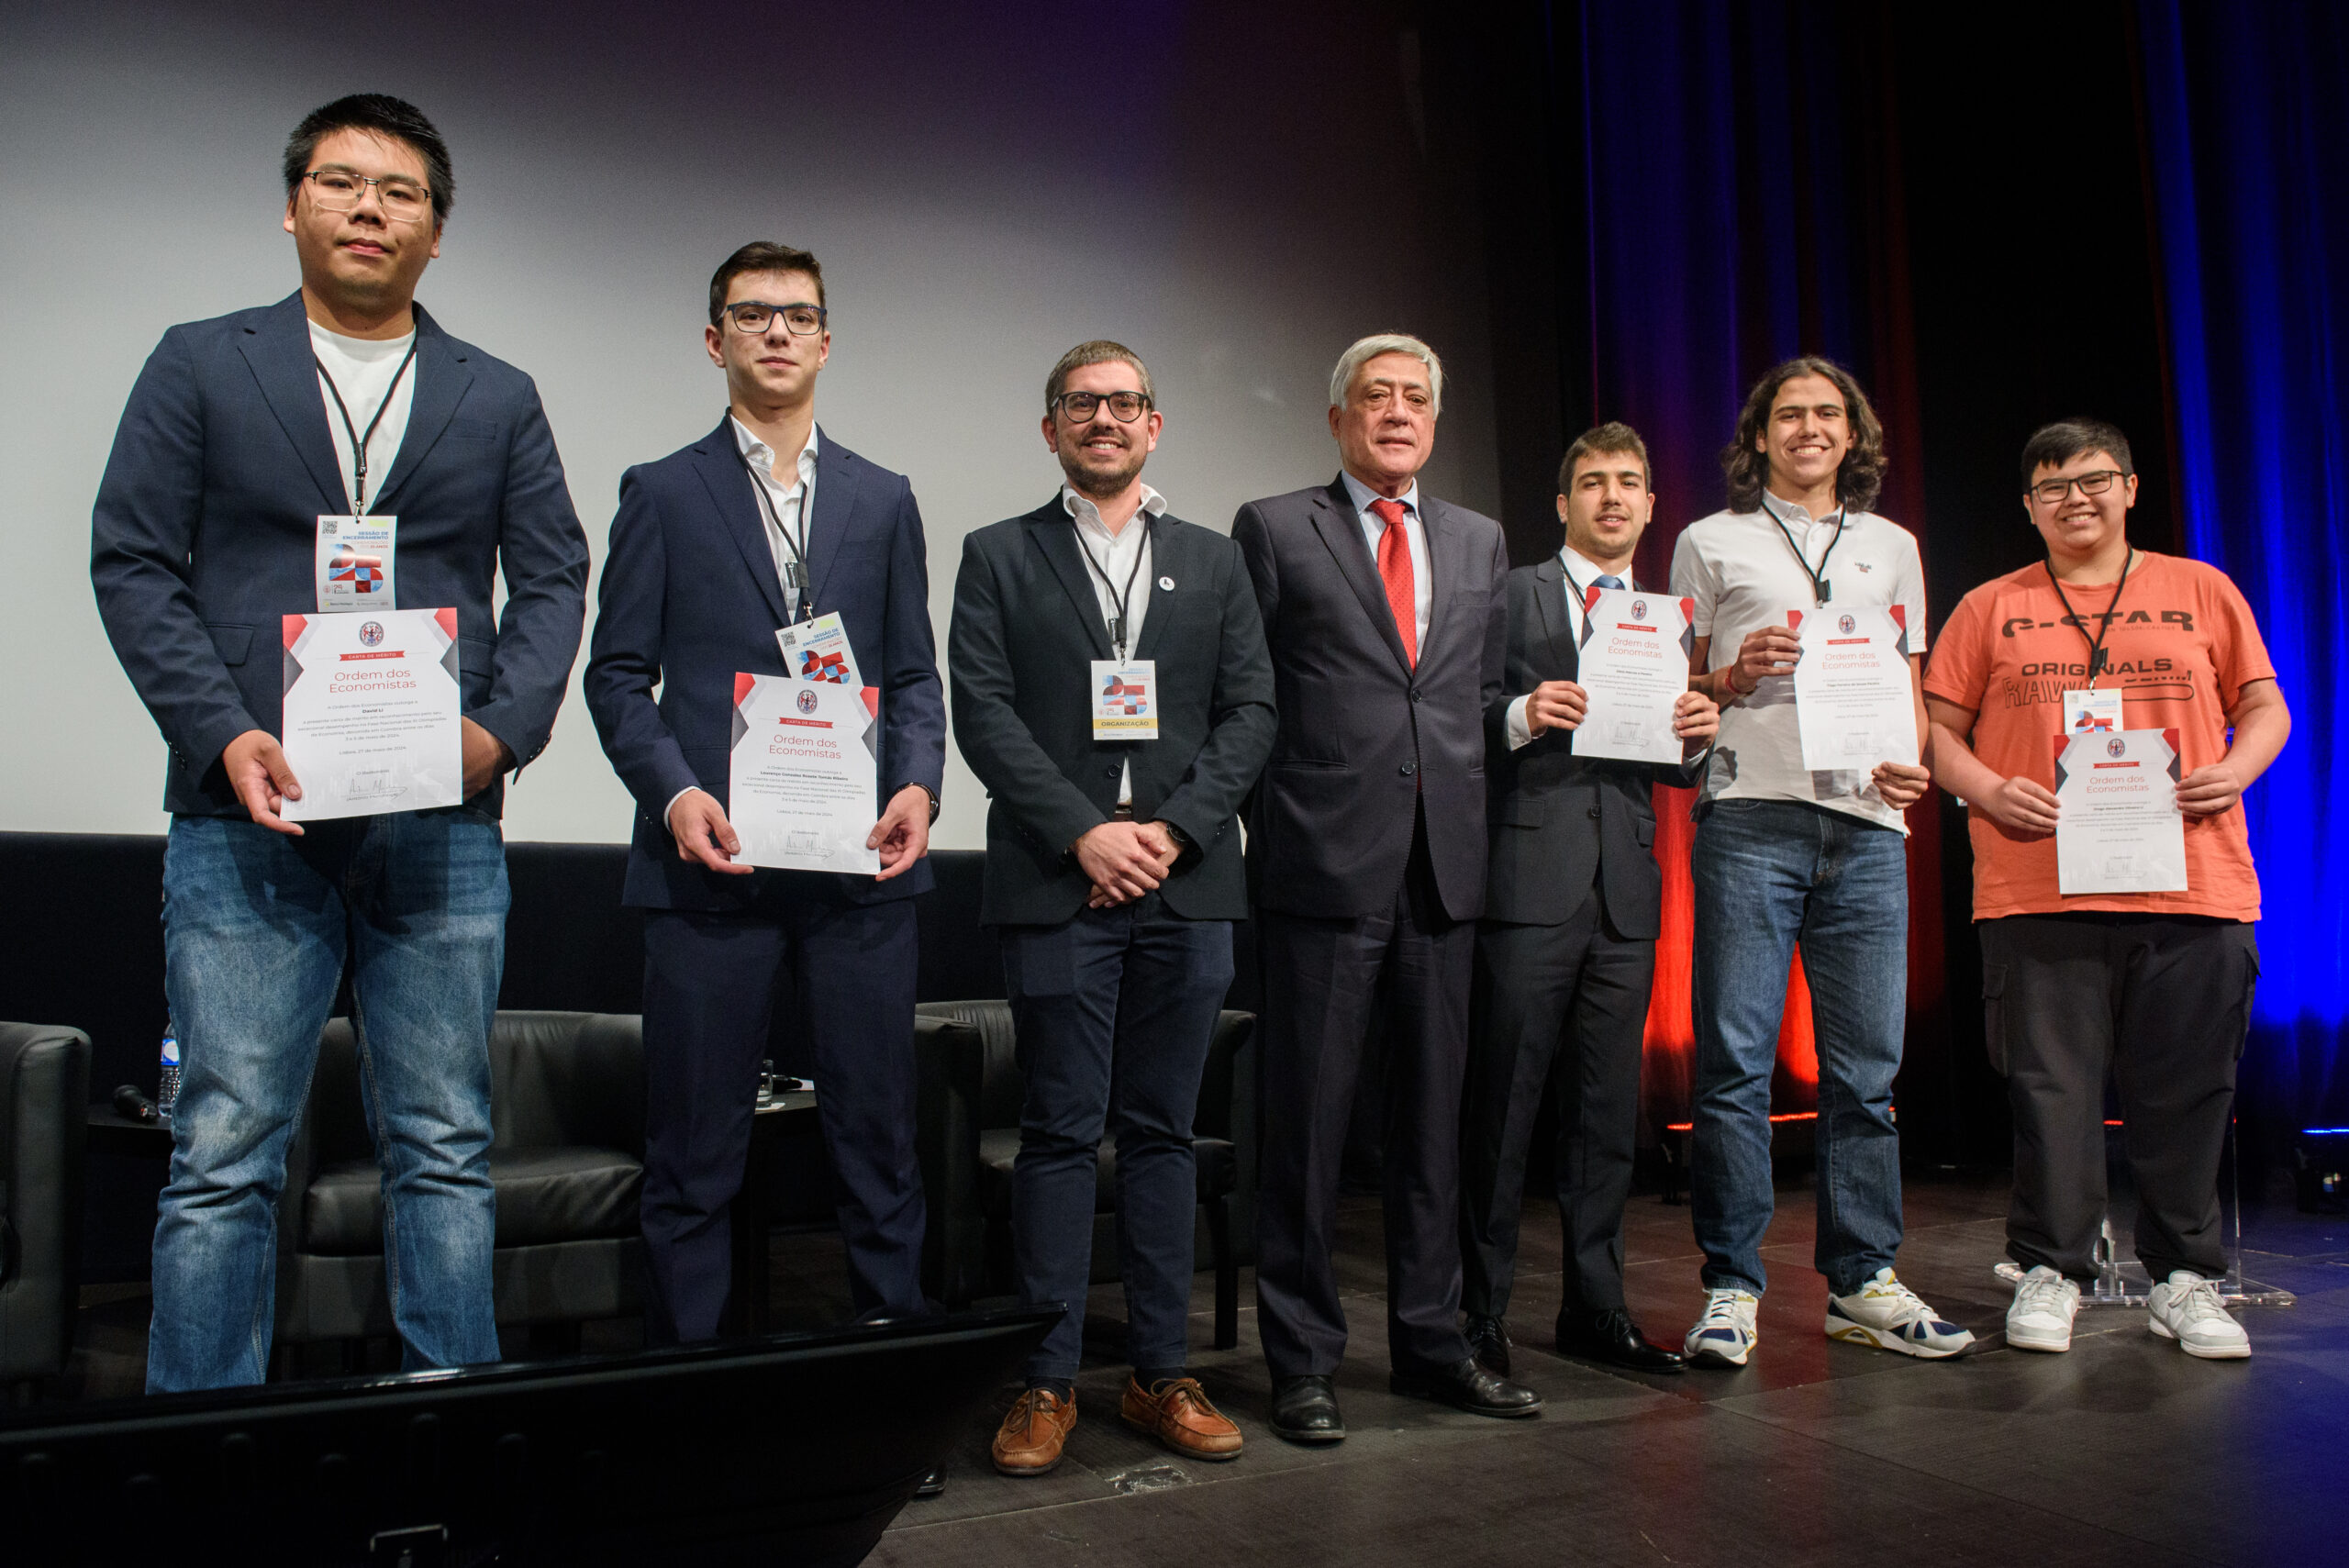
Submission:
M 2119 589 L 2119 606 L 2114 606 Z M 2065 610 L 2065 599 L 2072 608 Z M 2178 730 L 2182 775 L 2227 756 L 2227 709 L 2274 681 L 2243 594 L 2213 566 L 2138 552 L 2126 584 L 2062 584 L 2025 566 L 1966 594 L 1933 646 L 1924 695 L 1973 711 L 1973 753 L 1999 777 L 2055 789 L 2062 695 L 2088 685 L 2088 641 L 2105 627 L 2098 690 L 2121 692 L 2121 728 Z M 2243 803 L 2187 817 L 2185 892 L 2086 892 L 2055 885 L 2055 838 L 2022 838 L 1968 805 L 1973 918 L 2102 908 L 2147 915 L 2260 918 Z

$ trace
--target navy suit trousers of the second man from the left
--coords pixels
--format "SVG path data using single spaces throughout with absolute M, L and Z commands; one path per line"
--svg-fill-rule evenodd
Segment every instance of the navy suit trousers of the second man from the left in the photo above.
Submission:
M 770 876 L 770 873 L 761 873 Z M 728 1214 L 749 1160 L 775 981 L 815 1047 L 815 1113 L 839 1176 L 860 1317 L 918 1317 L 914 901 L 850 904 L 773 883 L 747 913 L 644 918 L 646 1338 L 707 1340 L 733 1284 Z

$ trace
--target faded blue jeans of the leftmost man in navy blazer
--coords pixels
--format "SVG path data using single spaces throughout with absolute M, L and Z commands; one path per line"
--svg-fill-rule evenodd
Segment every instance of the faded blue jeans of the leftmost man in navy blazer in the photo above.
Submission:
M 496 1361 L 498 824 L 460 805 L 312 822 L 287 838 L 230 817 L 174 817 L 162 897 L 183 1068 L 171 1185 L 155 1216 L 148 1392 L 261 1383 L 268 1371 L 287 1145 L 345 951 L 402 1364 Z

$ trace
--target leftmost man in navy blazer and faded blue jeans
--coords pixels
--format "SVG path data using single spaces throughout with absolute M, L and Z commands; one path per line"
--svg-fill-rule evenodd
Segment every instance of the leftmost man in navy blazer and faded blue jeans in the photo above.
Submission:
M 399 99 L 338 99 L 294 131 L 284 181 L 301 291 L 164 333 L 92 519 L 106 634 L 171 746 L 164 988 L 183 1077 L 155 1218 L 155 1392 L 263 1378 L 287 1143 L 345 953 L 404 1361 L 498 1359 L 500 775 L 547 744 L 587 592 L 538 390 L 413 303 L 453 192 L 439 134 Z M 277 744 L 280 617 L 324 608 L 317 540 L 350 514 L 397 521 L 402 606 L 456 610 L 465 798 L 303 829 L 282 817 L 303 782 Z

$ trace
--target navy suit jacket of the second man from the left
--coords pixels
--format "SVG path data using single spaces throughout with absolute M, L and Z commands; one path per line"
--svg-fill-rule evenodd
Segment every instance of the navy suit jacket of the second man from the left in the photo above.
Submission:
M 637 798 L 620 899 L 639 908 L 745 908 L 770 878 L 820 878 L 855 901 L 909 899 L 930 887 L 928 861 L 876 883 L 806 871 L 721 876 L 677 857 L 669 800 L 698 786 L 726 803 L 735 671 L 789 674 L 775 646 L 782 582 L 752 484 L 731 418 L 620 477 L 585 678 L 604 753 Z M 947 704 L 930 636 L 921 507 L 904 474 L 874 467 L 822 427 L 808 582 L 815 610 L 839 610 L 848 624 L 857 674 L 881 688 L 874 817 L 907 784 L 935 798 L 947 772 Z

